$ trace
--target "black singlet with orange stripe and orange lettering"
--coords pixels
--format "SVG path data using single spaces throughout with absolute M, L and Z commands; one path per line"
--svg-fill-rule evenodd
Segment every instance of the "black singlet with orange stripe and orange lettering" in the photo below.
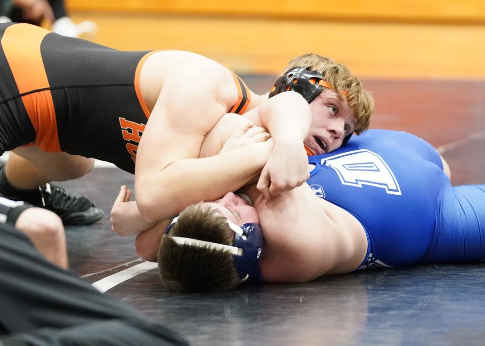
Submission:
M 150 116 L 139 89 L 153 52 L 119 51 L 29 24 L 0 24 L 0 154 L 35 143 L 134 172 Z M 234 75 L 244 112 L 249 90 Z

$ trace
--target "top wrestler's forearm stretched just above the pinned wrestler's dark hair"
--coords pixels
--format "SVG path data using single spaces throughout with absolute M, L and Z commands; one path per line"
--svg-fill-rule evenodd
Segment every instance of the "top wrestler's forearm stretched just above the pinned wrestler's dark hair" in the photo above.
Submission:
M 139 211 L 145 220 L 155 222 L 192 203 L 220 198 L 253 180 L 271 150 L 271 141 L 261 142 L 211 157 L 178 160 L 144 179 L 135 177 Z

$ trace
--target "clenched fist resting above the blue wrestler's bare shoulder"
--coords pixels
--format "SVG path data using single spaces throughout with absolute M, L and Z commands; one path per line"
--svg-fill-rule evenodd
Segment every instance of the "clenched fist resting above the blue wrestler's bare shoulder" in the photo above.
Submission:
M 310 178 L 308 156 L 303 143 L 278 143 L 274 145 L 256 186 L 266 198 L 290 191 Z

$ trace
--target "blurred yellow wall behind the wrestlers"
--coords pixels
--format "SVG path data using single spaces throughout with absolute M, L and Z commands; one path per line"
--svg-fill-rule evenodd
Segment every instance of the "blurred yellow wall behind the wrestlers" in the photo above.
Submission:
M 363 78 L 485 79 L 482 0 L 66 0 L 124 50 L 185 49 L 238 73 L 277 74 L 294 56 L 332 57 Z

